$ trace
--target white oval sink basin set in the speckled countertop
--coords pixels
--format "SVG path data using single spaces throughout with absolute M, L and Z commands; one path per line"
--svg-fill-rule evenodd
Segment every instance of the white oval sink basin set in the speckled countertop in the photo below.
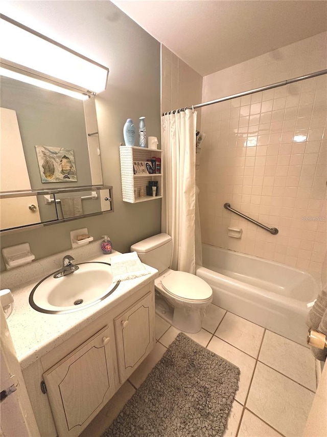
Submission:
M 110 264 L 85 262 L 79 269 L 61 278 L 53 273 L 42 279 L 30 294 L 32 308 L 47 314 L 72 313 L 101 302 L 120 282 L 112 282 Z

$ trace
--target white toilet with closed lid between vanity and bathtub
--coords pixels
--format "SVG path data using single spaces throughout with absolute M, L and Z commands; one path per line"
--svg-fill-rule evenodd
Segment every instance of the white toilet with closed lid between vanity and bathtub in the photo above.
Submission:
M 155 279 L 156 313 L 184 332 L 199 332 L 205 308 L 213 300 L 213 290 L 203 279 L 169 268 L 172 237 L 158 234 L 131 246 L 145 264 L 159 270 Z

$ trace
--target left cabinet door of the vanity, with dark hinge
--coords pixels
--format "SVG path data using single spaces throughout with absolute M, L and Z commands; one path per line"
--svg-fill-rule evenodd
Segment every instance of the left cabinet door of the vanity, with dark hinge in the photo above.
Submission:
M 43 374 L 60 437 L 79 435 L 113 396 L 114 355 L 106 326 Z

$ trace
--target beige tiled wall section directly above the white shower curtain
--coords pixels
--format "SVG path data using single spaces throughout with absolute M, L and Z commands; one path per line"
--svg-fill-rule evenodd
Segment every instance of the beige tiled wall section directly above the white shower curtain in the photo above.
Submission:
M 161 113 L 201 103 L 202 76 L 161 44 Z M 197 126 L 200 128 L 201 111 Z

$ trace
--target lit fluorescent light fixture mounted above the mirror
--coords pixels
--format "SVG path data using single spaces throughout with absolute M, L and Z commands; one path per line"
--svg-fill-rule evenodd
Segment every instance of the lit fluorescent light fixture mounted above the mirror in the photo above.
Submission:
M 108 68 L 1 15 L 2 66 L 89 95 L 106 89 Z

